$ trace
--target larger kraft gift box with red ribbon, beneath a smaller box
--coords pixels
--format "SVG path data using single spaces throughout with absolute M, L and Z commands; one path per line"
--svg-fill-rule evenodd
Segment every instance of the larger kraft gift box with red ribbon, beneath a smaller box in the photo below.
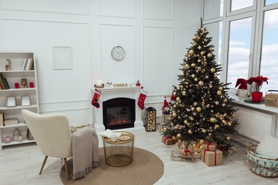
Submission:
M 202 149 L 201 160 L 207 166 L 217 166 L 222 164 L 222 152 L 219 149 L 215 151 L 209 151 Z

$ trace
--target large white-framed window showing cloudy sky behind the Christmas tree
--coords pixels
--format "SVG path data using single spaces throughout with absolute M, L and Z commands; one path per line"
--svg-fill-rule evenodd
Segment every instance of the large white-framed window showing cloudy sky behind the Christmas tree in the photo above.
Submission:
M 213 44 L 218 47 L 215 55 L 222 64 L 220 80 L 232 83 L 229 93 L 235 93 L 237 78 L 257 75 L 269 78 L 269 84 L 262 86 L 263 93 L 278 90 L 278 0 L 227 0 L 214 4 L 206 1 L 203 24 L 213 32 L 212 41 L 216 40 Z M 222 17 L 206 14 L 213 6 L 223 6 Z M 222 31 L 215 31 L 217 23 L 222 23 Z M 216 44 L 218 41 L 222 43 Z

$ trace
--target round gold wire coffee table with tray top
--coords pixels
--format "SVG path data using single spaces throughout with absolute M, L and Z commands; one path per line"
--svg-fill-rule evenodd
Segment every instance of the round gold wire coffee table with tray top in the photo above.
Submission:
M 133 162 L 134 134 L 121 132 L 116 142 L 107 137 L 103 139 L 103 149 L 106 164 L 110 166 L 126 166 Z

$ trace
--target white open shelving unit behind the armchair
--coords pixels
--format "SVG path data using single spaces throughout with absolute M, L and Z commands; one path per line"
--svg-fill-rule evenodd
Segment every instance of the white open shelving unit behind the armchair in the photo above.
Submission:
M 6 58 L 11 59 L 11 70 L 6 70 Z M 22 70 L 24 60 L 26 58 L 34 58 L 34 70 Z M 21 115 L 21 110 L 26 109 L 38 113 L 38 89 L 36 79 L 36 58 L 34 53 L 28 52 L 0 52 L 0 73 L 9 83 L 9 90 L 0 90 L 0 112 L 4 113 L 4 120 L 18 119 L 17 125 L 0 126 L 0 149 L 4 146 L 14 144 L 25 144 L 35 142 L 26 137 L 27 125 Z M 27 78 L 28 88 L 21 88 L 21 78 Z M 34 88 L 29 88 L 29 83 L 34 83 Z M 19 88 L 15 88 L 15 83 L 19 83 Z M 30 96 L 30 106 L 21 106 L 21 96 Z M 6 97 L 16 97 L 16 107 L 6 107 Z M 24 137 L 23 142 L 12 141 L 5 143 L 6 137 L 13 138 L 14 129 L 19 129 L 21 136 Z

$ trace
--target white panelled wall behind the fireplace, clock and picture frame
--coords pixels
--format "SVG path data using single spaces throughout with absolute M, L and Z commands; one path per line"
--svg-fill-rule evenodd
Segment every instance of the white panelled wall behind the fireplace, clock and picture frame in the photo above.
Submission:
M 99 79 L 140 80 L 145 107 L 159 112 L 200 16 L 200 0 L 1 0 L 0 50 L 36 54 L 42 114 L 93 122 L 91 87 Z M 110 51 L 118 45 L 125 58 L 115 62 Z M 72 47 L 72 69 L 53 69 L 53 46 Z

